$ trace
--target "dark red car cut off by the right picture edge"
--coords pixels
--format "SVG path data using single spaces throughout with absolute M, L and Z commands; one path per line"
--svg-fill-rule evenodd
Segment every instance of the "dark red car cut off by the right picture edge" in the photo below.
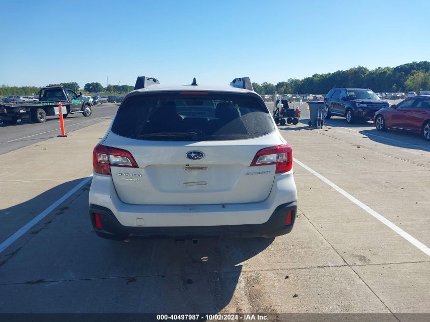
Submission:
M 415 96 L 382 108 L 375 113 L 374 124 L 378 131 L 389 128 L 420 131 L 430 141 L 430 96 Z

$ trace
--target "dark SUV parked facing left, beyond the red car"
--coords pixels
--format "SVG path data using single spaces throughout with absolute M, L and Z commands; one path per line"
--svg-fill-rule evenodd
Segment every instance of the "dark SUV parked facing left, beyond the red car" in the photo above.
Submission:
M 337 115 L 345 117 L 350 124 L 372 120 L 378 110 L 389 107 L 387 101 L 369 89 L 332 89 L 324 102 L 326 120 Z

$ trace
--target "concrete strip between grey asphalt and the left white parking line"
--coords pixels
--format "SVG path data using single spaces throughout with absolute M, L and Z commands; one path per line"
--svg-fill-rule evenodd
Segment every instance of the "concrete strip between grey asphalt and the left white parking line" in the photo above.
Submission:
M 91 151 L 110 120 L 0 155 L 0 242 L 92 173 Z

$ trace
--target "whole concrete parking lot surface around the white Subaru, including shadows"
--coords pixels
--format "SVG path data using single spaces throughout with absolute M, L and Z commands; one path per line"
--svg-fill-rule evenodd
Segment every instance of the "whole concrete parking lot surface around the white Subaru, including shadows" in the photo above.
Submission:
M 279 127 L 299 211 L 276 239 L 98 238 L 88 176 L 109 120 L 0 155 L 0 312 L 430 314 L 430 143 L 336 117 L 310 130 L 301 109 Z

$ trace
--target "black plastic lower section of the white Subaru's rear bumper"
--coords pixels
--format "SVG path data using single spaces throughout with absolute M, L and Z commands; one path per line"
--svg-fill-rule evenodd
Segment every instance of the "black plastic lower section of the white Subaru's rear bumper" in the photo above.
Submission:
M 95 223 L 95 214 L 100 215 L 102 228 Z M 290 224 L 285 225 L 286 217 Z M 112 240 L 174 238 L 193 239 L 207 237 L 268 237 L 285 235 L 293 229 L 297 213 L 297 203 L 290 202 L 278 206 L 269 220 L 262 224 L 225 226 L 183 226 L 183 227 L 127 227 L 120 224 L 113 213 L 105 207 L 90 204 L 90 219 L 99 237 Z

